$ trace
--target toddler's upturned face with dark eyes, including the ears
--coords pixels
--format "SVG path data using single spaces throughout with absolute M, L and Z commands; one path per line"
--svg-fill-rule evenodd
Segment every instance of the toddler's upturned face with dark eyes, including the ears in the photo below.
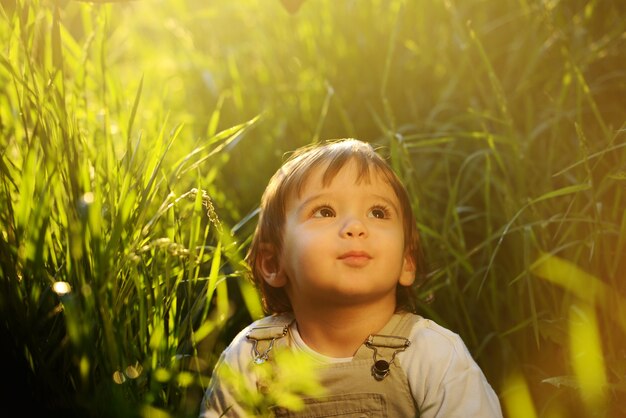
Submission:
M 314 169 L 302 193 L 286 202 L 278 274 L 292 306 L 395 307 L 396 285 L 415 279 L 396 194 L 376 173 L 357 182 L 352 162 L 323 186 L 324 168 Z

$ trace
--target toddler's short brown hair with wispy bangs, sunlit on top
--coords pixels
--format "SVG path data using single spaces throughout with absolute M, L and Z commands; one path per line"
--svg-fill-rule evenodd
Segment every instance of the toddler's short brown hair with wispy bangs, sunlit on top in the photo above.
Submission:
M 252 269 L 252 281 L 261 291 L 263 306 L 268 313 L 288 312 L 292 307 L 284 288 L 272 287 L 264 280 L 258 258 L 261 247 L 269 244 L 276 254 L 281 253 L 285 202 L 291 193 L 300 193 L 313 169 L 326 164 L 322 183 L 327 185 L 348 162 L 357 164 L 357 181 L 374 171 L 393 188 L 400 201 L 405 251 L 411 254 L 418 277 L 423 274 L 422 249 L 408 193 L 383 157 L 369 143 L 352 138 L 310 145 L 296 150 L 270 179 L 261 198 L 259 221 L 246 256 Z M 411 287 L 398 284 L 396 309 L 412 311 L 412 296 Z

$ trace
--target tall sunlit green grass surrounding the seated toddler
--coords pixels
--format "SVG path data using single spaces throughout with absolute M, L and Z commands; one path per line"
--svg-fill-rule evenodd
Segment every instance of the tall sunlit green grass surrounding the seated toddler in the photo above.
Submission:
M 505 415 L 626 414 L 622 2 L 0 4 L 7 401 L 195 416 L 261 315 L 242 258 L 269 176 L 352 136 L 411 191 L 420 312 Z

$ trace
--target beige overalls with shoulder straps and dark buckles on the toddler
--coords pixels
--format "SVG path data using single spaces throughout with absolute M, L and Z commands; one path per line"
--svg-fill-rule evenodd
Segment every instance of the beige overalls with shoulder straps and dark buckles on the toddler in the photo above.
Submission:
M 419 417 L 404 370 L 396 355 L 410 344 L 415 315 L 397 313 L 379 334 L 368 337 L 352 361 L 319 366 L 321 384 L 331 395 L 305 399 L 303 411 L 274 410 L 276 417 Z M 271 361 L 274 347 L 286 346 L 291 314 L 262 319 L 246 335 L 254 361 Z M 262 388 L 260 388 L 262 390 Z

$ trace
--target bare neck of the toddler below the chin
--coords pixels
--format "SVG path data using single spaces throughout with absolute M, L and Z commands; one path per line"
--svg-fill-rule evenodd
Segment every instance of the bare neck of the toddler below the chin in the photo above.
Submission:
M 294 315 L 302 339 L 313 350 L 329 357 L 352 357 L 370 334 L 387 324 L 394 310 L 395 303 L 299 306 Z

